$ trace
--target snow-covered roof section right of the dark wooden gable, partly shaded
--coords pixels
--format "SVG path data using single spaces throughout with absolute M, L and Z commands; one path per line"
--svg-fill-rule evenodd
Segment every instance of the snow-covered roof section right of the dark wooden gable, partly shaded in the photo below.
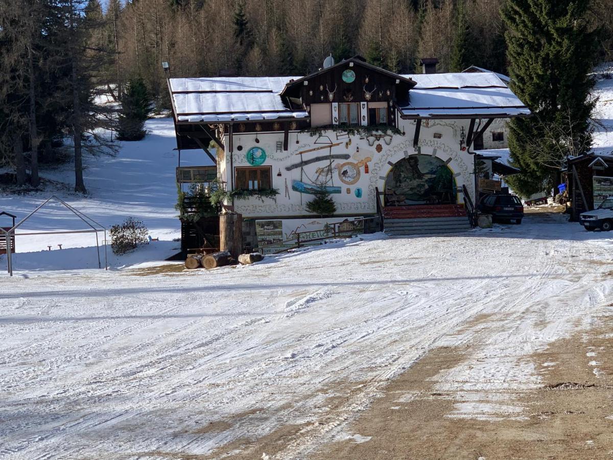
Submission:
M 403 118 L 517 117 L 530 110 L 492 72 L 405 75 L 417 85 L 409 91 Z

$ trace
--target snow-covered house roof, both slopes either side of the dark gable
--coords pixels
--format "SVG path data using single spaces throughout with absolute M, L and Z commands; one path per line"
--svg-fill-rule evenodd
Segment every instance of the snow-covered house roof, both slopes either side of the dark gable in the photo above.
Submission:
M 524 103 L 492 72 L 398 76 L 417 83 L 409 91 L 409 105 L 400 108 L 403 118 L 530 115 Z M 177 121 L 215 123 L 307 118 L 305 110 L 288 109 L 280 94 L 287 83 L 300 78 L 170 79 L 170 91 Z

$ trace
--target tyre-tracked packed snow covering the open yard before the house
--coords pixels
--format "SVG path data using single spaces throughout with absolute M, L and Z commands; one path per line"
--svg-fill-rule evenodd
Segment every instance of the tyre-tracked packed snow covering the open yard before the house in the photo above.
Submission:
M 530 388 L 526 357 L 611 303 L 612 249 L 609 234 L 536 214 L 208 272 L 2 278 L 0 457 L 181 458 L 305 424 L 276 457 L 303 458 L 350 435 L 346 423 L 430 348 L 470 343 L 463 324 L 489 313 L 487 348 L 438 385 Z M 338 382 L 361 386 L 329 413 Z M 452 415 L 495 415 L 484 407 Z

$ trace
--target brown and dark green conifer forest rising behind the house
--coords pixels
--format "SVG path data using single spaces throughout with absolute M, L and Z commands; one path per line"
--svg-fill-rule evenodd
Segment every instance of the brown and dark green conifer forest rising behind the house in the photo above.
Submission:
M 18 184 L 36 187 L 38 162 L 55 161 L 55 147 L 69 139 L 75 190 L 86 191 L 82 155 L 115 148 L 98 128 L 139 139 L 147 113 L 169 109 L 162 62 L 172 77 L 305 75 L 330 54 L 360 55 L 409 74 L 421 72 L 420 58 L 436 57 L 438 72 L 475 65 L 512 76 L 516 59 L 519 75 L 530 59 L 512 49 L 513 36 L 547 29 L 526 26 L 533 13 L 513 19 L 530 4 L 580 21 L 567 24 L 589 41 L 571 53 L 579 74 L 613 59 L 612 0 L 0 0 L 0 162 Z M 547 37 L 531 42 L 535 53 L 539 40 Z M 568 55 L 556 53 L 559 69 Z M 539 90 L 530 91 L 517 93 L 539 104 Z M 121 117 L 96 104 L 102 94 Z

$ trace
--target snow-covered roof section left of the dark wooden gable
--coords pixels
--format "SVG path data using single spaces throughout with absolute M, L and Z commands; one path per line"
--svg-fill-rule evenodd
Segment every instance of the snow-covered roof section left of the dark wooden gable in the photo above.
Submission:
M 215 77 L 170 79 L 177 121 L 245 121 L 306 118 L 289 110 L 280 92 L 300 77 Z

